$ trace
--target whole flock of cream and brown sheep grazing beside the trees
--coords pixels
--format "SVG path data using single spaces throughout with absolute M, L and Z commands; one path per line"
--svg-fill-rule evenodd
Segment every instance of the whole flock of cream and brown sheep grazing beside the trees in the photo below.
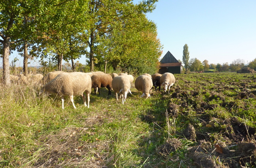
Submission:
M 31 73 L 29 74 L 31 75 Z M 28 76 L 29 76 L 28 75 Z M 33 76 L 33 77 L 32 77 Z M 13 76 L 12 76 L 13 77 Z M 23 77 L 19 76 L 16 80 L 22 80 Z M 37 78 L 36 78 L 37 77 Z M 54 71 L 49 72 L 45 76 L 41 74 L 31 75 L 30 79 L 34 83 L 43 85 L 39 95 L 43 92 L 56 93 L 61 97 L 62 109 L 64 109 L 64 96 L 69 96 L 70 101 L 74 108 L 74 96 L 81 95 L 83 103 L 89 108 L 91 88 L 94 88 L 94 93 L 100 94 L 100 88 L 106 87 L 108 89 L 108 95 L 111 95 L 111 91 L 114 91 L 116 99 L 118 100 L 118 94 L 122 98 L 122 104 L 124 104 L 127 94 L 131 93 L 131 83 L 134 78 L 127 73 L 107 74 L 101 71 L 98 72 L 63 72 Z M 24 81 L 29 81 L 25 80 Z M 26 82 L 25 82 L 26 83 Z M 153 85 L 160 91 L 160 87 L 163 86 L 163 90 L 169 94 L 170 87 L 175 83 L 175 77 L 172 73 L 164 73 L 163 75 L 155 73 L 150 75 L 144 73 L 138 76 L 135 80 L 135 88 L 142 92 L 144 98 L 150 97 Z M 84 95 L 86 93 L 86 96 Z M 131 93 L 132 94 L 132 93 Z M 87 104 L 86 104 L 87 97 Z

